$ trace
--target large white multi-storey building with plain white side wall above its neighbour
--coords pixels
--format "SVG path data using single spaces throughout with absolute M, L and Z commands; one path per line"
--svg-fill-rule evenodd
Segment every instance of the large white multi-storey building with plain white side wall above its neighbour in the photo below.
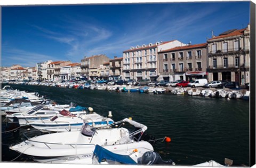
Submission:
M 175 46 L 184 46 L 177 40 L 169 42 L 149 43 L 142 46 L 131 47 L 123 51 L 123 76 L 129 79 L 150 79 L 155 81 L 158 78 L 158 51 L 170 49 Z

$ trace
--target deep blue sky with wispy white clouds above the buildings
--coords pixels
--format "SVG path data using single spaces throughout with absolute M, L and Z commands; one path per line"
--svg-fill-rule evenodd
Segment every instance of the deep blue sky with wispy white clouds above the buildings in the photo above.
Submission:
M 173 39 L 205 43 L 211 30 L 249 22 L 249 1 L 2 7 L 2 66 L 122 57 L 131 46 Z

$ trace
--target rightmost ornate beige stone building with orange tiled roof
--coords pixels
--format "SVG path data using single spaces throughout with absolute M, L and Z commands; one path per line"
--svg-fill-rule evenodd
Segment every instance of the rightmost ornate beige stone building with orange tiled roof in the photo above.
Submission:
M 212 36 L 209 46 L 209 81 L 250 82 L 250 25 Z

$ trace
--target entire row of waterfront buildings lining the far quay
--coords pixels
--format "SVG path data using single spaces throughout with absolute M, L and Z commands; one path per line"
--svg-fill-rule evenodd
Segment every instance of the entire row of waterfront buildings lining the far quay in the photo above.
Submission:
M 178 40 L 149 43 L 123 51 L 123 57 L 104 54 L 70 61 L 39 62 L 34 68 L 10 67 L 1 70 L 2 79 L 150 79 L 150 81 L 235 81 L 250 82 L 250 25 L 207 39 L 202 44 Z

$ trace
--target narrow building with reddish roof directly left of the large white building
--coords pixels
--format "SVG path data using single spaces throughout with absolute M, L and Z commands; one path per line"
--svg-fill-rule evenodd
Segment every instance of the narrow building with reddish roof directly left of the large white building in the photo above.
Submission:
M 109 75 L 111 79 L 120 79 L 122 78 L 123 71 L 123 57 L 109 60 Z

